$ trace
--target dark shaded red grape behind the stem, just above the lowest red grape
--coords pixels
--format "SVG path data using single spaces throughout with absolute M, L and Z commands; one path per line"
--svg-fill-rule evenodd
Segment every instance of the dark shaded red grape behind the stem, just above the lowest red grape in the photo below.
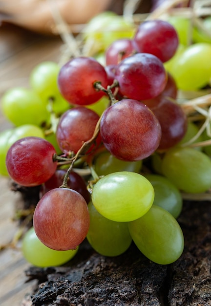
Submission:
M 44 184 L 42 184 L 40 192 L 41 197 L 49 190 L 61 187 L 65 174 L 66 170 L 57 169 L 56 172 Z M 90 194 L 86 189 L 84 178 L 81 175 L 74 171 L 70 172 L 67 179 L 67 186 L 82 195 L 86 203 L 90 201 Z

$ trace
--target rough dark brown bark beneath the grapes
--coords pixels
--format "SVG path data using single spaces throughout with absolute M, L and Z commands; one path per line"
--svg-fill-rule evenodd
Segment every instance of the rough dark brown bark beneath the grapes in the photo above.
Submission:
M 65 266 L 26 271 L 39 283 L 32 306 L 211 306 L 211 202 L 186 201 L 178 221 L 185 249 L 176 262 L 150 262 L 134 244 L 109 258 L 84 241 Z

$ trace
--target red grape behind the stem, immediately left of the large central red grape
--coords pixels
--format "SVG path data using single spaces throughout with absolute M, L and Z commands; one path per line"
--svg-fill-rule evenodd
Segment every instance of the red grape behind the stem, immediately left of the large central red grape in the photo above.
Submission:
M 95 130 L 99 120 L 99 115 L 84 107 L 68 109 L 63 113 L 57 126 L 57 142 L 63 153 L 77 153 L 83 143 L 89 140 Z M 96 144 L 101 142 L 101 136 L 98 135 Z M 94 149 L 94 145 L 89 152 Z

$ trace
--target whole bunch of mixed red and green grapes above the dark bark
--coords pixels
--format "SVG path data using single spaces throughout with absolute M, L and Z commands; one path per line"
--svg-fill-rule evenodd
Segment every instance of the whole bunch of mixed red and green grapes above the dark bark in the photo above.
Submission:
M 0 173 L 40 186 L 22 243 L 29 262 L 62 264 L 85 238 L 105 256 L 132 241 L 159 264 L 181 256 L 181 191 L 211 188 L 211 160 L 184 146 L 198 130 L 165 68 L 178 45 L 169 22 L 146 21 L 106 48 L 105 66 L 85 56 L 42 63 L 31 89 L 5 93 L 3 112 L 16 128 L 0 135 Z

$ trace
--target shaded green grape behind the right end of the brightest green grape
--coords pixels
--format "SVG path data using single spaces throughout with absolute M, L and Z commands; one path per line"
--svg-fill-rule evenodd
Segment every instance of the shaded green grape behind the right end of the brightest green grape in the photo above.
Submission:
M 183 199 L 179 189 L 162 175 L 145 175 L 154 188 L 153 205 L 166 209 L 175 219 L 179 217 Z

